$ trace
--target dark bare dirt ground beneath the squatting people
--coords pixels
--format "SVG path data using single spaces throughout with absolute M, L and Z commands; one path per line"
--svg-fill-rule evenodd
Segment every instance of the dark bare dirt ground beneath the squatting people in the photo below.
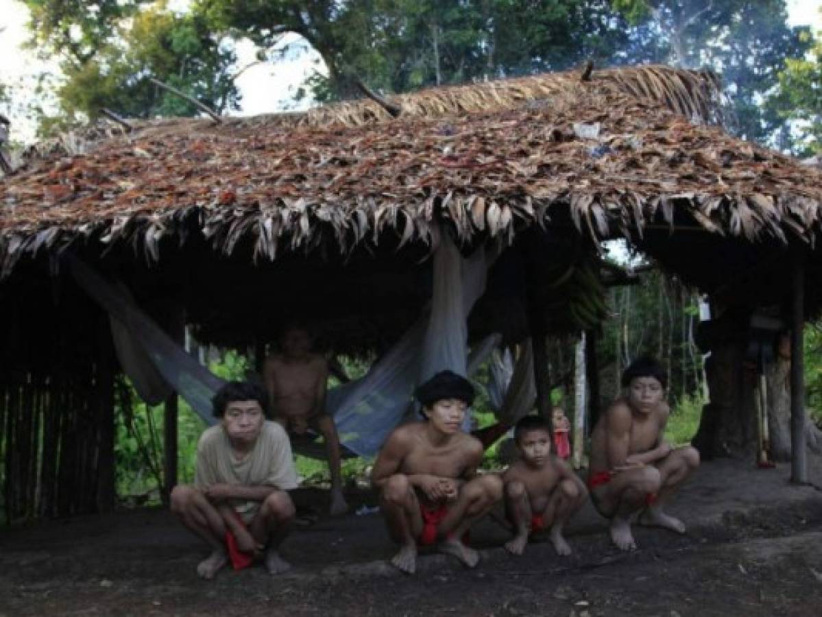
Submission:
M 487 522 L 472 535 L 477 569 L 425 555 L 413 577 L 386 564 L 376 514 L 295 532 L 284 545 L 292 573 L 224 571 L 213 582 L 196 578 L 204 548 L 162 510 L 39 523 L 0 532 L 0 615 L 820 615 L 822 490 L 787 475 L 704 464 L 671 507 L 689 532 L 640 529 L 630 554 L 610 546 L 587 505 L 570 557 L 545 542 L 507 555 L 507 532 Z M 373 504 L 350 496 L 355 509 Z

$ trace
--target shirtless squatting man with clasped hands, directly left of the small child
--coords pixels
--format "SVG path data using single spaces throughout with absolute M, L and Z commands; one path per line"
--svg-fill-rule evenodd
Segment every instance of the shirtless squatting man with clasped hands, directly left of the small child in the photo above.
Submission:
M 499 476 L 477 476 L 483 444 L 462 432 L 473 386 L 442 371 L 419 386 L 415 396 L 427 421 L 396 428 L 372 471 L 388 531 L 400 546 L 391 564 L 411 574 L 418 543 L 439 541 L 441 552 L 473 568 L 479 555 L 465 546 L 464 534 L 502 498 Z

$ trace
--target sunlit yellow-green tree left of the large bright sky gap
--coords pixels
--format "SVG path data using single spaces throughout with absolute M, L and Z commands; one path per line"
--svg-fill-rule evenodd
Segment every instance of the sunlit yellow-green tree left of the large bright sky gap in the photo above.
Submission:
M 175 15 L 166 2 L 26 0 L 34 42 L 56 53 L 65 81 L 52 122 L 96 117 L 100 108 L 129 117 L 190 116 L 196 106 L 159 88 L 155 77 L 221 112 L 236 108 L 233 51 L 202 16 Z M 48 127 L 48 119 L 43 123 Z

